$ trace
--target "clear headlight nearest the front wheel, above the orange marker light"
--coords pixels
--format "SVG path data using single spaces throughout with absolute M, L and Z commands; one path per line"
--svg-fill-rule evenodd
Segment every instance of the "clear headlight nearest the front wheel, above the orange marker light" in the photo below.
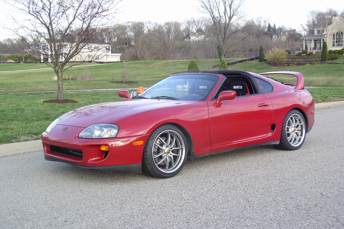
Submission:
M 79 138 L 115 138 L 119 127 L 110 123 L 96 123 L 80 132 Z

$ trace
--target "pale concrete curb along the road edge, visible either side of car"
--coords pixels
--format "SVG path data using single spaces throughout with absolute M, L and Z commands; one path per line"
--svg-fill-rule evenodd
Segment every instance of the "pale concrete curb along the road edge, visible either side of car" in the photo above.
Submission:
M 333 106 L 343 106 L 343 105 L 344 105 L 344 101 L 336 101 L 336 102 L 329 102 L 329 103 L 316 103 L 315 109 L 333 107 Z M 20 155 L 24 153 L 38 152 L 38 151 L 43 151 L 43 145 L 42 145 L 41 140 L 2 144 L 0 145 L 0 158 Z

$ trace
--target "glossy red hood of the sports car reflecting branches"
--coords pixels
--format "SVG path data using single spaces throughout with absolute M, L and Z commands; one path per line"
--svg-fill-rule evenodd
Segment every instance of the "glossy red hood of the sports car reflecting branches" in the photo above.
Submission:
M 87 127 L 94 123 L 118 123 L 129 117 L 166 107 L 183 106 L 198 101 L 126 99 L 80 107 L 62 115 L 59 125 Z

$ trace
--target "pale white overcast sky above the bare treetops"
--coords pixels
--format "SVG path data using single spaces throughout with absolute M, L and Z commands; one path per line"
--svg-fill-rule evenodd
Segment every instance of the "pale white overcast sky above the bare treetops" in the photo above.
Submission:
M 152 21 L 163 23 L 166 21 L 182 22 L 187 18 L 202 16 L 198 11 L 198 0 L 127 0 L 118 14 L 120 22 L 127 21 Z M 344 9 L 344 0 L 332 1 L 302 1 L 302 0 L 245 0 L 242 11 L 246 19 L 255 19 L 261 16 L 267 19 L 271 25 L 284 25 L 301 31 L 301 24 L 307 20 L 310 10 L 325 11 L 333 8 L 337 11 Z M 0 2 L 0 40 L 8 38 L 11 31 L 2 28 L 3 23 L 11 23 L 6 14 L 9 11 L 7 4 Z

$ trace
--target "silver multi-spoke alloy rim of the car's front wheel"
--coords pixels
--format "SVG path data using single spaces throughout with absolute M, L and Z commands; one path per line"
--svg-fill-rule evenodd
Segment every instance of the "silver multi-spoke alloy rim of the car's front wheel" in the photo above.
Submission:
M 155 166 L 164 173 L 176 171 L 184 161 L 185 143 L 175 130 L 164 130 L 155 139 L 152 147 Z

